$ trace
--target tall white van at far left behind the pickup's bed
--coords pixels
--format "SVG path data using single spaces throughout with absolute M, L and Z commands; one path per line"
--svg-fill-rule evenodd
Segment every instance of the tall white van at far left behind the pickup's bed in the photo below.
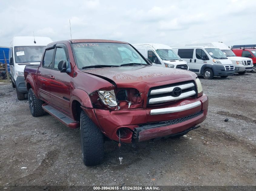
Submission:
M 16 88 L 18 100 L 24 100 L 25 94 L 28 93 L 24 82 L 25 65 L 39 65 L 45 46 L 51 42 L 48 37 L 13 37 L 9 62 L 12 87 Z

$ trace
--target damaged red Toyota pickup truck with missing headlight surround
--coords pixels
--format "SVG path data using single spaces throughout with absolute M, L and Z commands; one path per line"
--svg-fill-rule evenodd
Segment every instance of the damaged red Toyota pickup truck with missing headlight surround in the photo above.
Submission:
M 190 71 L 152 66 L 126 42 L 64 40 L 24 69 L 33 116 L 81 129 L 85 165 L 103 161 L 104 140 L 180 137 L 206 118 L 208 97 Z

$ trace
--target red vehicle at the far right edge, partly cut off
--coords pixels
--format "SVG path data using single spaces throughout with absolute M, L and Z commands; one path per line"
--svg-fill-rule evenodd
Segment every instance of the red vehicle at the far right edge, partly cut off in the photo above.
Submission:
M 236 56 L 251 58 L 253 62 L 253 73 L 256 73 L 256 45 L 234 45 L 232 46 L 232 51 Z

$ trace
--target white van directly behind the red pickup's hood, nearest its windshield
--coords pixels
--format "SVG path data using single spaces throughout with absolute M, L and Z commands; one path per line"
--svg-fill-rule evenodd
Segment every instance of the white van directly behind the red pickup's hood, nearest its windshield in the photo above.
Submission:
M 170 46 L 164 44 L 143 43 L 133 46 L 154 66 L 188 70 L 187 63 L 182 60 Z

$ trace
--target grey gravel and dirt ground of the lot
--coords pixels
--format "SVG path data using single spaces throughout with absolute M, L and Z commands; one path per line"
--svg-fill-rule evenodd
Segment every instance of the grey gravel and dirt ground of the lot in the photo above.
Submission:
M 200 80 L 209 97 L 200 128 L 135 148 L 123 144 L 122 165 L 118 144 L 106 142 L 105 161 L 95 167 L 82 162 L 79 129 L 51 115 L 33 117 L 28 100 L 18 101 L 11 84 L 0 85 L 0 186 L 255 186 L 256 74 Z

